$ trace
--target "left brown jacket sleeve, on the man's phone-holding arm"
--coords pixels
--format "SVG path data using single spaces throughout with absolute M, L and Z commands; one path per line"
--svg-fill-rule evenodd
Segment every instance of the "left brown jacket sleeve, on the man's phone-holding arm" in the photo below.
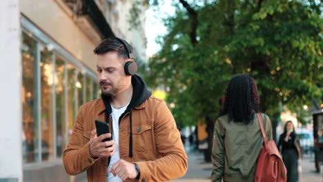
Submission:
M 68 145 L 63 152 L 63 165 L 65 170 L 70 175 L 76 175 L 84 172 L 95 161 L 99 159 L 92 159 L 89 152 L 89 142 L 84 144 L 83 139 L 83 121 L 84 121 L 84 107 L 81 106 L 79 114 L 75 120 L 75 125 L 68 141 Z

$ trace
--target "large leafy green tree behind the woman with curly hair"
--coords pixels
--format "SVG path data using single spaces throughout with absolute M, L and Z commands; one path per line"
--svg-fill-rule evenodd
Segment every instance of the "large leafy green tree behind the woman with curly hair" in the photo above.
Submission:
M 154 1 L 154 3 L 156 3 Z M 170 89 L 180 125 L 205 121 L 211 160 L 219 100 L 234 74 L 255 78 L 261 111 L 277 115 L 282 103 L 322 100 L 322 3 L 317 1 L 188 1 L 175 3 L 162 49 L 150 59 L 148 85 Z M 275 120 L 275 119 L 274 119 Z

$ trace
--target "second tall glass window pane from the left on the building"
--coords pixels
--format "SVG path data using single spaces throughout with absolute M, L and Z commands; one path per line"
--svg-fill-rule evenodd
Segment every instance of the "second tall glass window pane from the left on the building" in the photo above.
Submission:
M 54 83 L 52 52 L 41 51 L 41 159 L 48 161 L 53 156 L 52 136 L 52 85 Z

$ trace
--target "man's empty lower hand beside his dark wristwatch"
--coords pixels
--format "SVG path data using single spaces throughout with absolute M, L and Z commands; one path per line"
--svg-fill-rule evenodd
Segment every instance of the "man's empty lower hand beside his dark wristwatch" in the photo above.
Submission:
M 128 163 L 122 159 L 112 165 L 112 168 L 108 172 L 112 172 L 114 176 L 119 176 L 123 181 L 126 179 L 135 179 L 138 175 L 135 164 Z

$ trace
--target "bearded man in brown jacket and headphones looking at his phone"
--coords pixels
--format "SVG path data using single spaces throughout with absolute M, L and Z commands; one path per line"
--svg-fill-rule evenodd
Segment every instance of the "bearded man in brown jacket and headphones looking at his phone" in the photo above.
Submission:
M 166 103 L 151 96 L 137 76 L 133 48 L 123 39 L 106 39 L 94 53 L 101 98 L 79 108 L 63 152 L 71 175 L 87 171 L 88 181 L 169 181 L 183 176 L 187 156 Z M 97 136 L 95 120 L 111 133 Z M 110 138 L 110 141 L 103 141 Z

